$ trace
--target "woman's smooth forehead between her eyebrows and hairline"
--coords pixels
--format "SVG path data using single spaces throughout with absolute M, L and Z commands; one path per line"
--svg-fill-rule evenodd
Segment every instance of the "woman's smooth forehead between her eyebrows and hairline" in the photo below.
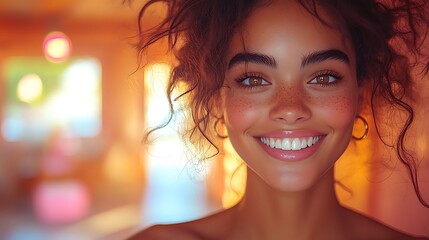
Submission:
M 351 41 L 346 36 L 345 28 L 326 11 L 319 13 L 326 23 L 295 1 L 273 1 L 255 8 L 234 34 L 228 57 L 243 51 L 275 55 L 291 50 L 306 54 L 340 49 L 353 58 Z

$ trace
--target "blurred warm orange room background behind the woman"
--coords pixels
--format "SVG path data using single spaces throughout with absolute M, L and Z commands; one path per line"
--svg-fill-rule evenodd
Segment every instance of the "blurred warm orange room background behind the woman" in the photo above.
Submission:
M 144 2 L 0 0 L 0 239 L 123 239 L 242 195 L 245 172 L 234 155 L 192 164 L 174 126 L 156 144 L 142 144 L 145 127 L 167 115 L 162 86 L 170 69 L 162 46 L 137 64 L 132 43 Z M 163 10 L 153 8 L 144 24 Z M 429 91 L 420 87 L 419 131 L 409 144 L 418 147 L 429 199 Z M 429 236 L 428 209 L 370 133 L 337 165 L 343 204 Z

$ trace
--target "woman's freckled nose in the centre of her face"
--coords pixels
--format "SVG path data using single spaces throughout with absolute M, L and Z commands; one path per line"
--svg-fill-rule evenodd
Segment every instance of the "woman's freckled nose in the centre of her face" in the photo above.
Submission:
M 273 96 L 270 118 L 285 124 L 295 124 L 311 117 L 308 97 L 299 87 L 279 89 Z

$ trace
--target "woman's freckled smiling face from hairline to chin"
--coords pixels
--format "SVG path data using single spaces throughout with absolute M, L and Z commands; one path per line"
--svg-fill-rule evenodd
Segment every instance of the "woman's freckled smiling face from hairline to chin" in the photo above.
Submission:
M 316 183 L 351 137 L 355 56 L 333 26 L 296 3 L 274 1 L 246 19 L 227 54 L 222 103 L 230 141 L 256 174 L 282 191 Z

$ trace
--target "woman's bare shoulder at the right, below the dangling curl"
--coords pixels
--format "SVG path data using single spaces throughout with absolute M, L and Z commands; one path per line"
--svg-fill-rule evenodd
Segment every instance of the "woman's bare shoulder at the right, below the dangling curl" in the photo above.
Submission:
M 350 231 L 357 239 L 380 239 L 380 240 L 429 240 L 425 237 L 411 236 L 390 226 L 387 226 L 373 218 L 361 215 L 350 210 Z

